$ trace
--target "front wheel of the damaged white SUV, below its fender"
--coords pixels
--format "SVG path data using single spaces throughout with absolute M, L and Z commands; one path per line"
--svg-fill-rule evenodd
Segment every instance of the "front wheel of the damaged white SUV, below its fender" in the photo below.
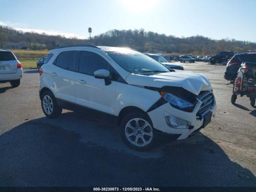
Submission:
M 124 116 L 120 124 L 120 135 L 129 148 L 137 151 L 149 151 L 154 146 L 152 122 L 142 112 Z

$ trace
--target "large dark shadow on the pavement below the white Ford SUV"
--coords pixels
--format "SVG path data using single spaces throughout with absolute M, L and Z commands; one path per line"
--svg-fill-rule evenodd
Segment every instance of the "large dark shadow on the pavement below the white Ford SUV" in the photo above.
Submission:
M 0 136 L 0 186 L 256 186 L 201 133 L 135 152 L 116 126 L 75 112 L 39 118 Z

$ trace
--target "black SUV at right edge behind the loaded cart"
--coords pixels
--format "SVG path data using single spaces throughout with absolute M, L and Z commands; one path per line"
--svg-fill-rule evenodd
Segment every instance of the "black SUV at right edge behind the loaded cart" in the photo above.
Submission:
M 245 52 L 234 55 L 227 63 L 224 78 L 234 82 L 237 76 L 238 69 L 245 62 L 249 70 L 246 72 L 248 78 L 256 79 L 256 52 Z

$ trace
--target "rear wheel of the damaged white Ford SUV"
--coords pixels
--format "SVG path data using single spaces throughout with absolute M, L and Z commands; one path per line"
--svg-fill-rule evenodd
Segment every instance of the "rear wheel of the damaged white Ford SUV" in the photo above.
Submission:
M 42 94 L 41 106 L 45 116 L 48 118 L 56 118 L 62 113 L 62 108 L 58 106 L 54 94 L 50 91 Z

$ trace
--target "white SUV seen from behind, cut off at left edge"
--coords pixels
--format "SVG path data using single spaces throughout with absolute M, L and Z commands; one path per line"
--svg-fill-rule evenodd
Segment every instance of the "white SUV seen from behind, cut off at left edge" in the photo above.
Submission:
M 18 87 L 21 78 L 21 63 L 10 50 L 0 50 L 0 83 L 10 82 L 13 87 Z

